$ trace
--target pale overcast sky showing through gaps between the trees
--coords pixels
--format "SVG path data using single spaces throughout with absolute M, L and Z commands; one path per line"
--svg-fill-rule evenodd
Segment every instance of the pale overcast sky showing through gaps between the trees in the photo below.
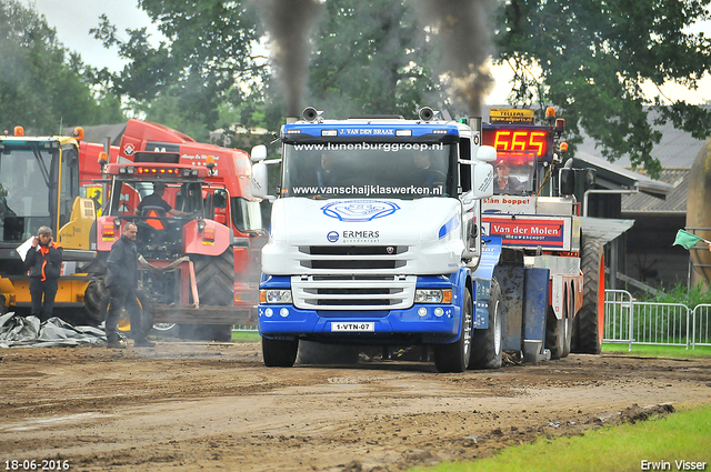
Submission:
M 123 68 L 126 61 L 119 58 L 118 51 L 103 49 L 101 42 L 89 34 L 91 28 L 99 26 L 99 16 L 106 13 L 117 26 L 119 38 L 126 39 L 127 28 L 148 27 L 151 39 L 158 43 L 162 36 L 148 14 L 138 8 L 138 0 L 22 0 L 26 4 L 34 4 L 37 10 L 47 18 L 50 27 L 57 29 L 57 36 L 64 47 L 79 52 L 82 60 L 97 68 L 108 67 L 112 71 Z M 711 37 L 711 22 L 693 28 L 693 31 L 705 31 Z M 497 84 L 485 100 L 489 104 L 504 103 L 510 90 L 508 81 L 511 72 L 508 67 L 497 68 L 494 71 Z M 647 93 L 657 94 L 653 87 L 648 87 Z M 690 91 L 681 86 L 667 86 L 664 94 L 671 100 L 687 100 L 690 103 L 703 103 L 711 100 L 711 78 L 704 76 L 698 91 Z

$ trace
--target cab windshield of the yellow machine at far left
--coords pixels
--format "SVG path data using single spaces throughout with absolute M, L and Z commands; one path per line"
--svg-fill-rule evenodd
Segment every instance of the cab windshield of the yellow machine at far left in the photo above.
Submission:
M 0 239 L 24 241 L 50 225 L 50 173 L 56 149 L 6 147 L 0 153 Z

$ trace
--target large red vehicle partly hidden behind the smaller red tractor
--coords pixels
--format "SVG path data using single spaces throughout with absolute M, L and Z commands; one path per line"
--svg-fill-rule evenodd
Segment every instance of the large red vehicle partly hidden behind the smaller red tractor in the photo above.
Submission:
M 220 148 L 213 144 L 196 142 L 193 139 L 161 124 L 129 120 L 120 137 L 113 142 L 119 145 L 102 145 L 81 142 L 80 179 L 86 188 L 87 197 L 104 205 L 103 195 L 110 193 L 106 182 L 101 183 L 101 164 L 98 157 L 108 151 L 104 159 L 108 163 L 130 163 L 142 151 L 169 152 L 178 155 L 178 163 L 192 169 L 204 169 L 210 172 L 204 177 L 202 199 L 204 217 L 231 231 L 230 245 L 233 252 L 232 305 L 238 312 L 250 312 L 250 317 L 237 317 L 234 324 L 251 324 L 256 320 L 258 281 L 260 274 L 261 247 L 267 242 L 267 233 L 262 229 L 259 199 L 252 197 L 251 164 L 249 154 L 236 149 Z M 170 197 L 171 189 L 168 189 Z M 92 297 L 88 293 L 88 297 Z M 97 297 L 93 297 L 97 299 Z M 173 324 L 159 321 L 157 329 L 172 329 Z M 180 335 L 200 337 L 194 324 L 181 324 Z M 208 327 L 208 334 L 214 330 Z

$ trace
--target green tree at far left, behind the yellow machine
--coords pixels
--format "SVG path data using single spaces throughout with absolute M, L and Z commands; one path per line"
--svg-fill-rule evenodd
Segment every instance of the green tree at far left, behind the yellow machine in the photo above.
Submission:
M 16 0 L 0 0 L 2 130 L 50 134 L 61 128 L 123 119 L 117 98 L 93 92 L 87 68 L 57 40 L 43 17 Z

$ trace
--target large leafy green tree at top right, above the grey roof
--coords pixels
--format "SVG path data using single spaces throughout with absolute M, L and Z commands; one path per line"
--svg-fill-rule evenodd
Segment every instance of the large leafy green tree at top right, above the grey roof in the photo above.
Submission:
M 661 134 L 648 114 L 653 102 L 642 93 L 645 80 L 695 89 L 711 66 L 711 42 L 685 32 L 709 19 L 711 0 L 511 0 L 502 10 L 497 42 L 499 62 L 515 72 L 514 103 L 557 104 L 563 110 L 568 141 L 581 129 L 614 160 L 628 154 L 633 165 L 657 175 L 650 155 Z M 542 70 L 541 79 L 530 73 Z M 661 104 L 661 98 L 655 100 Z M 705 138 L 710 114 L 677 101 L 661 107 L 660 121 Z M 571 133 L 572 132 L 572 135 Z

